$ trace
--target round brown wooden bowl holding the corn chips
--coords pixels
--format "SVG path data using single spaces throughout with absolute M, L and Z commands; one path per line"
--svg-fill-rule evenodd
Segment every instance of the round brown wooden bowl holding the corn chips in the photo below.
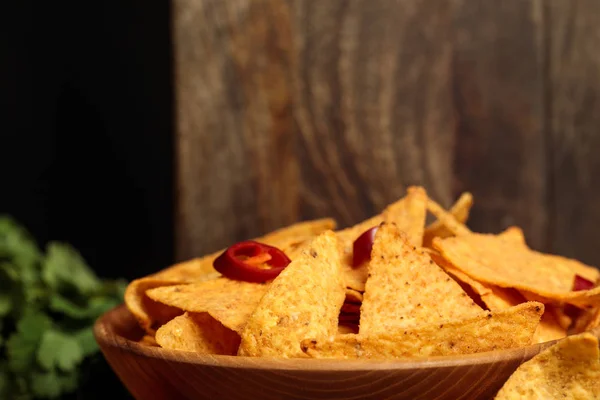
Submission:
M 554 342 L 411 361 L 264 359 L 199 355 L 136 343 L 124 305 L 94 334 L 136 399 L 490 399 L 524 361 Z

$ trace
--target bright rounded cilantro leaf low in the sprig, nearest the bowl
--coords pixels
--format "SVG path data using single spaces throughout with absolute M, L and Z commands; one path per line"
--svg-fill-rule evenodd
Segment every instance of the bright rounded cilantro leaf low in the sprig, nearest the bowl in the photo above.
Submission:
M 83 360 L 83 349 L 77 338 L 51 329 L 42 336 L 37 360 L 46 370 L 58 367 L 63 371 L 70 371 Z

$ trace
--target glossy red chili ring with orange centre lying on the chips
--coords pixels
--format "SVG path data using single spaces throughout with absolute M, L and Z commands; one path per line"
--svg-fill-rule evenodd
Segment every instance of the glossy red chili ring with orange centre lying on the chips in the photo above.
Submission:
M 277 247 L 247 240 L 230 246 L 215 259 L 213 266 L 230 279 L 265 282 L 275 279 L 290 262 Z M 270 268 L 260 268 L 263 264 Z

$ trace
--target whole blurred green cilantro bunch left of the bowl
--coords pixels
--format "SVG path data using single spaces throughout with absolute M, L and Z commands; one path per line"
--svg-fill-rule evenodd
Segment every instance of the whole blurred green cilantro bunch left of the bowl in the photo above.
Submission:
M 55 399 L 75 391 L 98 352 L 92 327 L 120 304 L 126 282 L 101 280 L 67 243 L 40 250 L 0 216 L 0 399 Z

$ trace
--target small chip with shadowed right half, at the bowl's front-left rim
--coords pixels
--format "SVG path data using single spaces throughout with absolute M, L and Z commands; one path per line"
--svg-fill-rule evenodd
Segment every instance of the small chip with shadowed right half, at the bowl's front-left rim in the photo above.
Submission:
M 165 349 L 235 355 L 240 336 L 207 313 L 186 312 L 158 328 L 156 342 Z

